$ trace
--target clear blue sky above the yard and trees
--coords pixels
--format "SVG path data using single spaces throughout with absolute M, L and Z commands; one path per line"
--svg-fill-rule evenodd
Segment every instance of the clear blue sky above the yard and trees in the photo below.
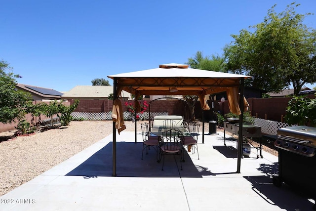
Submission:
M 18 83 L 68 91 L 91 80 L 222 55 L 231 35 L 292 0 L 1 0 L 0 59 Z M 316 0 L 296 1 L 316 13 Z M 304 23 L 316 29 L 316 14 Z M 308 85 L 315 87 L 316 84 Z

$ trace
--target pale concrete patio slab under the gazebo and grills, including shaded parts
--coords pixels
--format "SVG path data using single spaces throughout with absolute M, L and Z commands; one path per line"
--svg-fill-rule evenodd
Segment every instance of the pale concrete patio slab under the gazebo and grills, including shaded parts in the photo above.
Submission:
M 112 135 L 0 197 L 0 211 L 278 211 L 312 210 L 314 200 L 284 184 L 277 188 L 276 156 L 251 149 L 237 170 L 236 141 L 205 135 L 197 153 L 141 160 L 141 135 L 117 134 L 117 176 L 112 176 Z M 201 142 L 201 139 L 199 140 Z

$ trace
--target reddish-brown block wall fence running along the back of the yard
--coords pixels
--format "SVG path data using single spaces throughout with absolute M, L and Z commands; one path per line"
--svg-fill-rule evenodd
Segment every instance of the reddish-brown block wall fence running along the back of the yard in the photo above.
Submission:
M 315 98 L 315 95 L 308 95 L 310 98 Z M 279 98 L 248 98 L 249 111 L 251 115 L 260 119 L 267 119 L 276 122 L 283 122 L 283 117 L 285 116 L 285 110 L 288 101 L 292 97 L 279 97 Z M 143 103 L 144 100 L 140 100 Z M 149 100 L 146 100 L 150 103 Z M 33 103 L 40 103 L 42 101 L 34 101 Z M 65 105 L 71 105 L 74 102 L 73 99 L 64 102 Z M 127 111 L 127 106 L 125 102 L 133 101 L 122 100 L 122 109 Z M 47 103 L 47 102 L 46 102 Z M 196 119 L 202 119 L 202 113 L 204 115 L 204 121 L 214 120 L 214 113 L 220 112 L 221 114 L 229 113 L 228 101 L 221 103 L 220 101 L 208 101 L 207 102 L 211 110 L 202 112 L 199 101 L 195 105 L 195 116 Z M 169 115 L 182 115 L 186 116 L 186 112 L 189 112 L 189 108 L 186 108 L 186 103 L 181 100 L 157 100 L 151 103 L 151 112 L 167 112 Z M 213 105 L 213 106 L 212 106 Z M 80 100 L 79 105 L 75 112 L 86 112 L 86 113 L 102 113 L 112 111 L 113 100 Z M 147 110 L 148 112 L 148 110 Z M 33 118 L 31 114 L 26 115 L 26 120 L 33 125 L 35 125 L 39 118 Z M 49 119 L 45 116 L 41 116 L 40 120 Z M 17 123 L 12 124 L 2 124 L 0 123 L 0 132 L 14 130 Z

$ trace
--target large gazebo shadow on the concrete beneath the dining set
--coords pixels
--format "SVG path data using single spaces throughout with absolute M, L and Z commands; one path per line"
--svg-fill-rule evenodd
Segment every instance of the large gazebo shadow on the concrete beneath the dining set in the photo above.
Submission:
M 113 142 L 110 142 L 66 175 L 83 176 L 84 178 L 112 176 L 112 145 Z M 202 177 L 214 175 L 207 168 L 195 166 L 187 151 L 184 153 L 183 170 L 180 170 L 180 159 L 177 155 L 165 156 L 164 168 L 161 170 L 162 160 L 160 163 L 157 162 L 155 149 L 150 149 L 149 154 L 144 151 L 144 158 L 141 160 L 142 147 L 142 142 L 117 142 L 116 169 L 118 177 Z

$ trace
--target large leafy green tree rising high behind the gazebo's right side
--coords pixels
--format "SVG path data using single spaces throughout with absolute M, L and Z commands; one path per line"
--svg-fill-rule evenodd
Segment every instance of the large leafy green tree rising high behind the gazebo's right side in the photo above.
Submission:
M 316 31 L 303 24 L 307 14 L 294 11 L 295 2 L 276 13 L 274 5 L 264 22 L 232 35 L 224 51 L 227 70 L 252 76 L 245 84 L 267 91 L 281 91 L 290 84 L 298 94 L 306 83 L 316 82 Z

